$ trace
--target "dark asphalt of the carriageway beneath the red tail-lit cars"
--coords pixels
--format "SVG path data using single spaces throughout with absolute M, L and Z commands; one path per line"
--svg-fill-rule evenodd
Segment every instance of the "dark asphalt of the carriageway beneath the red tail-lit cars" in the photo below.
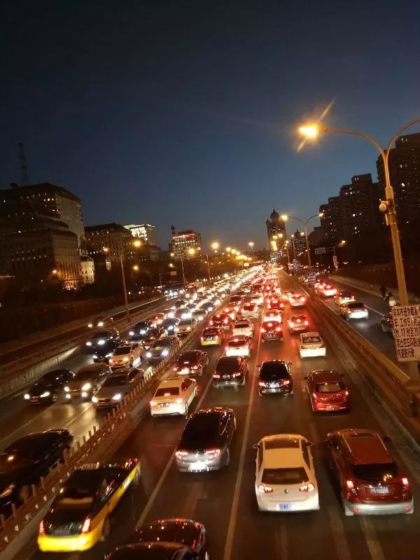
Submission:
M 294 285 L 286 278 L 283 286 Z M 296 286 L 295 286 L 296 288 Z M 287 314 L 287 310 L 286 310 Z M 309 317 L 311 328 L 322 325 Z M 230 466 L 208 474 L 179 473 L 174 465 L 174 447 L 185 419 L 151 419 L 146 414 L 116 456 L 141 460 L 141 484 L 130 489 L 120 502 L 108 542 L 100 542 L 83 554 L 42 554 L 33 560 L 99 560 L 114 545 L 124 542 L 134 526 L 162 517 L 188 517 L 207 528 L 212 560 L 269 558 L 281 560 L 407 560 L 417 559 L 420 509 L 414 514 L 390 517 L 344 517 L 335 486 L 325 465 L 323 440 L 331 430 L 373 428 L 391 437 L 395 455 L 412 480 L 414 503 L 420 491 L 418 458 L 391 423 L 384 409 L 359 379 L 351 379 L 327 342 L 326 358 L 300 360 L 297 340 L 285 333 L 283 342 L 259 344 L 255 330 L 253 356 L 249 360 L 246 386 L 214 388 L 211 374 L 221 349 L 210 348 L 210 363 L 198 378 L 199 396 L 193 407 L 228 405 L 237 415 L 237 433 L 230 452 Z M 260 397 L 255 365 L 269 358 L 293 363 L 294 395 Z M 351 388 L 352 408 L 345 414 L 314 414 L 305 390 L 304 376 L 317 368 L 336 368 Z M 255 451 L 252 444 L 263 435 L 300 433 L 314 442 L 314 461 L 321 509 L 317 512 L 272 514 L 258 512 L 255 503 Z

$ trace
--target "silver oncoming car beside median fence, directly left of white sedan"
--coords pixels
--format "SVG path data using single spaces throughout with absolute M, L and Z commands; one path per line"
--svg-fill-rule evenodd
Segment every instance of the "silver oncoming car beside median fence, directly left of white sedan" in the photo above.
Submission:
M 105 379 L 101 388 L 92 396 L 94 407 L 119 405 L 137 381 L 144 377 L 144 374 L 144 370 L 139 370 L 137 367 L 120 367 Z

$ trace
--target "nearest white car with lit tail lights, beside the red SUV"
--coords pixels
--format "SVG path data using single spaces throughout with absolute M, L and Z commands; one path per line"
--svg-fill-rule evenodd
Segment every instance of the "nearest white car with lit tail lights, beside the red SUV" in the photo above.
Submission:
M 280 433 L 262 437 L 254 446 L 258 510 L 282 513 L 319 510 L 311 445 L 303 435 Z

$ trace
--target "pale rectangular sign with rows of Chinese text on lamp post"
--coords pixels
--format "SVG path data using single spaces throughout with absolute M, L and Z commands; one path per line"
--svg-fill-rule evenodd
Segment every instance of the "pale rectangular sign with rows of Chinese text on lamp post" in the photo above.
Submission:
M 420 361 L 420 305 L 395 305 L 392 323 L 397 360 Z

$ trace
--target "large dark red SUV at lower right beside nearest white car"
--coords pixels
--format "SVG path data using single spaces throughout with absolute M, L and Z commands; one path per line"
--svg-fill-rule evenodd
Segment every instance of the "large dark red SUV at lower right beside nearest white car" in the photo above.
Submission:
M 346 428 L 325 442 L 345 515 L 412 514 L 411 484 L 374 430 Z

